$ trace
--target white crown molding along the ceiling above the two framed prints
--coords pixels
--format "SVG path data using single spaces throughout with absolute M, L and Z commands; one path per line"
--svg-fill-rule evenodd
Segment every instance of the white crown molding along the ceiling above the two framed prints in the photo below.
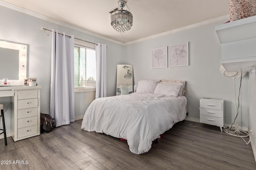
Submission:
M 229 14 L 228 15 L 224 15 L 224 16 L 220 16 L 220 17 L 217 17 L 217 18 L 213 18 L 213 19 L 210 19 L 210 20 L 194 23 L 194 24 L 191 24 L 191 25 L 188 25 L 188 26 L 185 26 L 185 27 L 180 27 L 180 28 L 177 28 L 177 29 L 172 29 L 170 31 L 166 31 L 166 32 L 163 32 L 163 33 L 151 35 L 151 36 L 144 37 L 144 38 L 141 38 L 141 39 L 136 39 L 134 41 L 130 41 L 130 42 L 124 43 L 124 45 L 130 45 L 130 44 L 139 43 L 139 42 L 142 42 L 142 41 L 147 41 L 147 40 L 150 40 L 150 39 L 162 37 L 162 36 L 165 36 L 165 35 L 170 35 L 170 34 L 173 34 L 173 33 L 180 32 L 180 31 L 185 31 L 185 30 L 188 30 L 188 29 L 200 27 L 200 26 L 203 26 L 203 25 L 207 25 L 207 24 L 210 24 L 210 23 L 214 23 L 214 22 L 218 22 L 218 21 L 223 21 L 223 20 L 227 20 L 227 19 L 229 19 Z

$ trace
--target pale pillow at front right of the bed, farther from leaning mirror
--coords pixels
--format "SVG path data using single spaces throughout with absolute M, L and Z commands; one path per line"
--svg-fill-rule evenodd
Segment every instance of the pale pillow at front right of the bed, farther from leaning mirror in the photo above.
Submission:
M 178 97 L 181 87 L 181 84 L 158 83 L 154 91 L 154 94 L 163 94 L 166 96 Z

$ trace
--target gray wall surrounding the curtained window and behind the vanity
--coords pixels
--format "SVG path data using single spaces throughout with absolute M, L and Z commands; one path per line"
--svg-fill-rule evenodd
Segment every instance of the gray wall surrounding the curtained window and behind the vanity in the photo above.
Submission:
M 41 112 L 50 112 L 50 73 L 51 73 L 51 43 L 52 33 L 42 31 L 40 27 L 47 29 L 58 29 L 74 35 L 76 38 L 84 39 L 94 43 L 107 45 L 107 95 L 114 96 L 116 90 L 116 65 L 122 64 L 122 45 L 88 35 L 74 29 L 54 24 L 49 21 L 17 12 L 0 6 L 0 39 L 22 44 L 28 44 L 28 77 L 37 78 L 41 89 Z M 90 101 L 93 100 L 95 92 L 83 92 L 75 94 L 75 115 L 84 115 Z M 11 102 L 9 97 L 0 98 L 5 108 Z M 6 111 L 7 132 L 11 131 L 11 111 Z M 1 125 L 2 126 L 2 125 Z

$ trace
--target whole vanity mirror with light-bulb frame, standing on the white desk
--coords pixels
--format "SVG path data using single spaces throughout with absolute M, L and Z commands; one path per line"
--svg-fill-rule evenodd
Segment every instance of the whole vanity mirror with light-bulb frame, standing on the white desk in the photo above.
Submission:
M 21 86 L 27 75 L 27 45 L 0 41 L 0 86 Z M 3 78 L 8 82 L 4 85 Z

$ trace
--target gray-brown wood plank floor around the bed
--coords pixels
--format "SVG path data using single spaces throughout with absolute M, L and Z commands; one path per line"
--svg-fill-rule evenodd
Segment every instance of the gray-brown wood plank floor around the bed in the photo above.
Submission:
M 126 141 L 84 131 L 81 123 L 78 120 L 17 142 L 8 137 L 6 147 L 0 139 L 0 170 L 256 170 L 251 145 L 220 132 L 219 127 L 176 123 L 162 134 L 159 144 L 137 155 Z

